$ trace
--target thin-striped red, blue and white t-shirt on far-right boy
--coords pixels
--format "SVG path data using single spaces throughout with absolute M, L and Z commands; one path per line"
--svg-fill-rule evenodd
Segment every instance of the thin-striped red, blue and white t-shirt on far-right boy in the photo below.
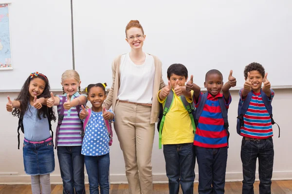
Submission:
M 244 103 L 245 97 L 242 97 L 242 89 L 239 90 L 241 102 Z M 271 89 L 272 102 L 274 91 Z M 240 128 L 240 135 L 255 139 L 266 139 L 273 136 L 271 116 L 268 113 L 260 93 L 253 92 L 251 102 L 247 112 L 243 116 L 243 127 Z

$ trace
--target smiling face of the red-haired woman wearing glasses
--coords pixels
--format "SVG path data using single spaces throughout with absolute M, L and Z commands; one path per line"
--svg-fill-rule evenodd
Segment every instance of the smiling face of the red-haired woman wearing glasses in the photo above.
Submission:
M 127 31 L 126 41 L 131 49 L 142 49 L 146 35 L 143 34 L 140 28 L 130 28 Z

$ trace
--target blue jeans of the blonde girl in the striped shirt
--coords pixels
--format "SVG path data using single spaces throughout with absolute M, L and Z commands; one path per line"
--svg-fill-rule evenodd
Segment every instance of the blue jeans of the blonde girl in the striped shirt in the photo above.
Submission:
M 63 194 L 85 194 L 81 146 L 57 146 L 57 155 L 63 179 Z

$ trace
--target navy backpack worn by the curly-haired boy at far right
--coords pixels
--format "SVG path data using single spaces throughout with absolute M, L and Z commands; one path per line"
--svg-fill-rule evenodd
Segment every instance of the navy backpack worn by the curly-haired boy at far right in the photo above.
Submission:
M 267 95 L 262 91 L 262 89 L 260 89 L 260 95 L 262 97 L 262 100 L 263 100 L 263 102 L 265 104 L 265 107 L 266 107 L 268 113 L 270 114 L 272 125 L 274 125 L 275 122 L 274 122 L 274 119 L 273 119 L 272 105 L 271 105 Z M 252 96 L 253 96 L 253 91 L 251 91 L 251 92 L 249 92 L 247 94 L 247 96 L 245 97 L 244 103 L 242 103 L 241 99 L 239 98 L 238 110 L 237 110 L 237 114 L 238 114 L 237 115 L 237 126 L 236 126 L 237 133 L 239 135 L 240 135 L 240 128 L 243 126 L 243 123 L 244 123 L 243 116 L 247 112 L 247 109 L 248 109 L 249 104 L 251 102 Z M 280 127 L 279 127 L 278 124 L 277 124 L 277 126 L 279 128 L 279 136 L 278 137 L 280 137 Z

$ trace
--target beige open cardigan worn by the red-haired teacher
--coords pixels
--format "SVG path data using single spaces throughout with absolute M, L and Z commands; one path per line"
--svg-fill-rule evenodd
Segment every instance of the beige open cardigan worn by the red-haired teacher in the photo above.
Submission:
M 112 85 L 110 88 L 110 92 L 103 104 L 103 106 L 109 110 L 112 105 L 112 111 L 114 112 L 114 108 L 116 105 L 118 90 L 120 88 L 120 64 L 121 64 L 121 56 L 115 58 L 115 60 L 111 64 L 112 70 Z M 153 55 L 152 55 L 153 56 Z M 162 79 L 162 63 L 161 61 L 153 56 L 154 65 L 155 65 L 155 76 L 154 76 L 154 84 L 153 84 L 153 95 L 152 95 L 152 107 L 150 114 L 150 123 L 157 122 L 159 116 L 159 102 L 157 98 L 158 91 L 165 86 L 165 83 Z M 118 78 L 118 79 L 116 79 Z

